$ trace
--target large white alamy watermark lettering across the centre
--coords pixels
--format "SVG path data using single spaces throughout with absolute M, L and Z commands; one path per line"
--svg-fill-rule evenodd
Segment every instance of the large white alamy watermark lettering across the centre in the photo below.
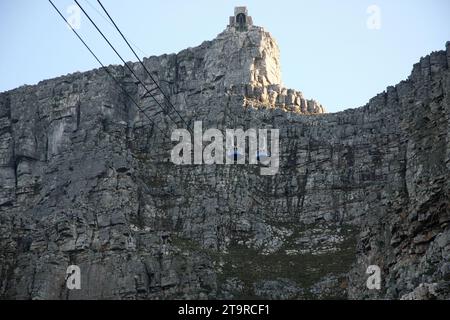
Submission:
M 251 165 L 262 165 L 261 175 L 277 174 L 280 165 L 278 129 L 226 129 L 225 136 L 224 139 L 224 134 L 219 129 L 203 132 L 201 121 L 194 124 L 193 141 L 188 130 L 176 129 L 171 138 L 173 142 L 179 143 L 172 149 L 171 160 L 176 165 L 239 165 L 246 164 L 248 159 Z M 204 147 L 205 143 L 208 145 Z

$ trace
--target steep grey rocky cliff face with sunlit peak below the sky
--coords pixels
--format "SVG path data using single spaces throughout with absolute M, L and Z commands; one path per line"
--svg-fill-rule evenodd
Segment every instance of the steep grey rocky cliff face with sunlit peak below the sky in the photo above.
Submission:
M 104 70 L 2 93 L 1 297 L 450 297 L 450 46 L 337 114 L 283 88 L 262 28 L 144 63 L 190 126 L 280 129 L 278 174 L 174 165 Z M 109 69 L 163 132 L 183 127 Z

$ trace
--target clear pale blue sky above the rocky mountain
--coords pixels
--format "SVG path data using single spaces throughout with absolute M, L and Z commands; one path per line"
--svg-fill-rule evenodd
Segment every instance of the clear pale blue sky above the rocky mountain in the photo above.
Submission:
M 74 2 L 53 0 L 106 64 L 121 64 Z M 96 0 L 79 0 L 126 61 L 135 61 Z M 214 39 L 235 6 L 277 40 L 283 84 L 328 112 L 356 108 L 405 80 L 450 41 L 449 0 L 103 0 L 142 56 Z M 97 10 L 97 11 L 96 11 Z M 79 24 L 78 24 L 79 22 Z M 0 0 L 0 92 L 99 65 L 47 0 Z

